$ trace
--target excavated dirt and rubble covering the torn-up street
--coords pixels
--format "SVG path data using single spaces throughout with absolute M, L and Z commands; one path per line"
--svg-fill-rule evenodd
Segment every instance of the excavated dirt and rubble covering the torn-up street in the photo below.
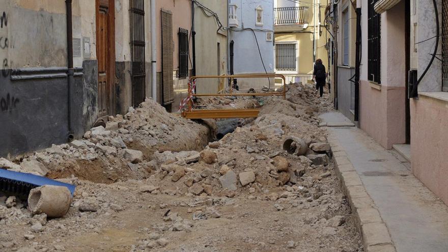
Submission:
M 98 159 L 108 160 L 95 167 L 98 173 L 117 174 L 117 166 L 144 172 L 109 184 L 76 174 L 62 179 L 77 185 L 70 210 L 62 218 L 33 216 L 20 199 L 3 197 L 0 248 L 362 251 L 360 235 L 334 173 L 326 131 L 318 127 L 317 113 L 330 109 L 331 104 L 327 96 L 317 99 L 313 87 L 295 84 L 288 88 L 288 101 L 274 97 L 257 100 L 254 104 L 263 104 L 257 119 L 245 120 L 233 133 L 205 148 L 201 141 L 208 137 L 207 127 L 159 111 L 147 101 L 123 119 L 114 118 L 118 130 L 110 135 L 99 137 L 98 129 L 88 132 L 92 147 L 63 146 L 58 154 L 46 151 L 26 157 L 39 160 L 51 156 L 50 165 L 44 168 L 53 176 L 54 167 L 62 166 L 64 160 L 70 162 L 69 153 L 75 160 L 89 162 L 89 166 L 77 166 L 79 174 L 95 167 Z M 301 94 L 301 98 L 291 94 Z M 99 132 L 103 131 L 107 129 Z M 181 134 L 191 137 L 192 143 L 181 139 Z M 108 144 L 118 136 L 126 147 Z M 284 150 L 288 139 L 297 142 L 287 141 Z M 146 148 L 145 154 L 129 153 L 129 148 L 137 149 L 135 143 L 152 149 Z M 173 144 L 182 148 L 163 148 Z M 114 146 L 116 152 L 98 154 L 97 145 Z M 299 150 L 303 155 L 298 155 Z M 78 159 L 75 153 L 80 155 Z M 98 157 L 88 160 L 89 153 Z

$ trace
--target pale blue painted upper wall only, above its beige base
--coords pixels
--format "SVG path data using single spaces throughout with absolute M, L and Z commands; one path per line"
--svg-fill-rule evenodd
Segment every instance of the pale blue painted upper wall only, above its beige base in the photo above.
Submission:
M 238 7 L 235 12 L 238 27 L 229 29 L 229 44 L 234 41 L 234 73 L 265 73 L 264 67 L 268 73 L 273 73 L 273 0 L 229 0 L 229 11 L 231 11 L 232 5 Z M 262 10 L 261 23 L 260 20 L 257 20 L 257 10 Z M 229 21 L 229 24 L 231 23 Z M 264 67 L 254 33 L 249 29 L 253 29 L 257 36 Z M 268 34 L 271 35 L 270 39 Z

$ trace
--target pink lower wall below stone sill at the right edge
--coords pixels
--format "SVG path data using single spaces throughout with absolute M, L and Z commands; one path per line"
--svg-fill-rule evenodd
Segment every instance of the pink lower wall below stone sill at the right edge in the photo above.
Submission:
M 448 205 L 448 102 L 411 100 L 412 172 Z

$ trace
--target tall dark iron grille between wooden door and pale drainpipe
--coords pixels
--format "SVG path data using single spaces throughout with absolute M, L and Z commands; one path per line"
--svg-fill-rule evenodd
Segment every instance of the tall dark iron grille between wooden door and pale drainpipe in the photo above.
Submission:
M 129 0 L 132 105 L 145 101 L 145 7 L 144 0 Z

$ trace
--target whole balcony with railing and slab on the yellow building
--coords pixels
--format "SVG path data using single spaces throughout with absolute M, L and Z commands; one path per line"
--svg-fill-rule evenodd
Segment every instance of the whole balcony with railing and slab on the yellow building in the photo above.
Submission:
M 274 31 L 292 32 L 306 29 L 310 18 L 309 8 L 307 6 L 274 8 Z

